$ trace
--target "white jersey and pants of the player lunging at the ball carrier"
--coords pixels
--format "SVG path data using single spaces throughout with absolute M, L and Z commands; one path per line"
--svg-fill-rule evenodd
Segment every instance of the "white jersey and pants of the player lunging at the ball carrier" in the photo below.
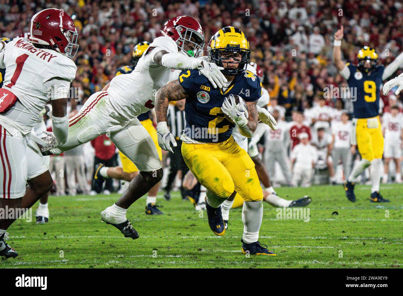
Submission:
M 107 91 L 89 97 L 80 112 L 69 120 L 67 142 L 51 151 L 60 153 L 107 134 L 139 171 L 162 168 L 154 141 L 137 119 L 154 108 L 156 92 L 178 79 L 181 72 L 154 62 L 154 55 L 161 50 L 178 52 L 178 46 L 169 37 L 154 39 L 133 72 L 114 77 Z

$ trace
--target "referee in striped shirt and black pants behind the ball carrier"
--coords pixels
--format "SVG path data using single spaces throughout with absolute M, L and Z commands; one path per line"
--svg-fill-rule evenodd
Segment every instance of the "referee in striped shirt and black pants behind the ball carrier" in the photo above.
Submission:
M 174 153 L 169 152 L 168 156 L 170 158 L 170 172 L 168 174 L 168 181 L 164 188 L 165 195 L 164 198 L 168 201 L 170 200 L 170 190 L 172 189 L 173 182 L 179 170 L 182 171 L 182 180 L 186 172 L 189 170 L 183 160 L 182 156 L 182 141 L 181 135 L 186 127 L 185 121 L 185 99 L 177 101 L 175 105 L 170 104 L 168 107 L 167 123 L 170 126 L 170 131 L 174 135 L 177 141 L 177 147 L 172 147 Z M 182 199 L 186 199 L 185 192 L 182 187 L 181 182 L 181 195 Z

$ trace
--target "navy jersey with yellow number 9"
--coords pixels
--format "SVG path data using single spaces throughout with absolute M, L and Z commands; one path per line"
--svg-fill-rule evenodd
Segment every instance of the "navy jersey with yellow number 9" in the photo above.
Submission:
M 353 64 L 347 64 L 350 77 L 347 80 L 350 89 L 353 87 L 355 97 L 351 97 L 355 118 L 371 118 L 379 114 L 380 86 L 385 67 L 378 65 L 368 74 L 363 74 Z

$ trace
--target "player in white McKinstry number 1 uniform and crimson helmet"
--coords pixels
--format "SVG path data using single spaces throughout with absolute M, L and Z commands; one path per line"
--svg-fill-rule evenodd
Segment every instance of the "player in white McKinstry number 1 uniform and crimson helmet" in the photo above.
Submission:
M 6 68 L 0 89 L 0 208 L 29 209 L 52 188 L 53 181 L 37 141 L 42 146 L 67 141 L 67 97 L 77 67 L 73 20 L 59 9 L 45 9 L 31 19 L 31 35 L 0 43 L 0 68 Z M 51 101 L 54 135 L 39 139 L 34 132 L 39 114 Z M 25 187 L 26 184 L 29 186 Z M 6 230 L 17 217 L 0 219 L 0 255 L 16 257 L 6 242 Z

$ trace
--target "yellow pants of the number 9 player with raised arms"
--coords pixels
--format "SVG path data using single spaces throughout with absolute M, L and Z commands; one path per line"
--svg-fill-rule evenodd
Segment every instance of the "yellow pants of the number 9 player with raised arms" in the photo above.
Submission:
M 375 127 L 368 127 L 368 120 L 371 120 L 372 118 L 359 118 L 356 124 L 355 132 L 358 151 L 361 154 L 361 157 L 368 161 L 372 161 L 374 158 L 382 158 L 383 155 L 384 139 L 379 117 L 376 116 L 376 118 L 378 126 Z

